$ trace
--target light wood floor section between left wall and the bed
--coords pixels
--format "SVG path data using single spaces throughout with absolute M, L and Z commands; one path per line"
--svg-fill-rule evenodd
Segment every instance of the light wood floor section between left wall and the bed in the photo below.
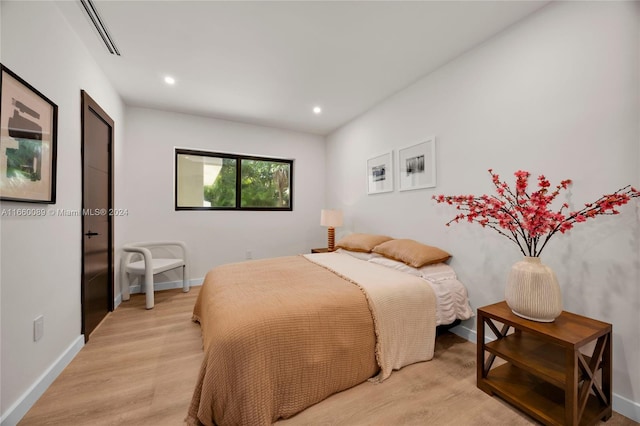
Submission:
M 202 362 L 191 311 L 200 287 L 155 293 L 155 307 L 133 294 L 19 425 L 182 425 Z

